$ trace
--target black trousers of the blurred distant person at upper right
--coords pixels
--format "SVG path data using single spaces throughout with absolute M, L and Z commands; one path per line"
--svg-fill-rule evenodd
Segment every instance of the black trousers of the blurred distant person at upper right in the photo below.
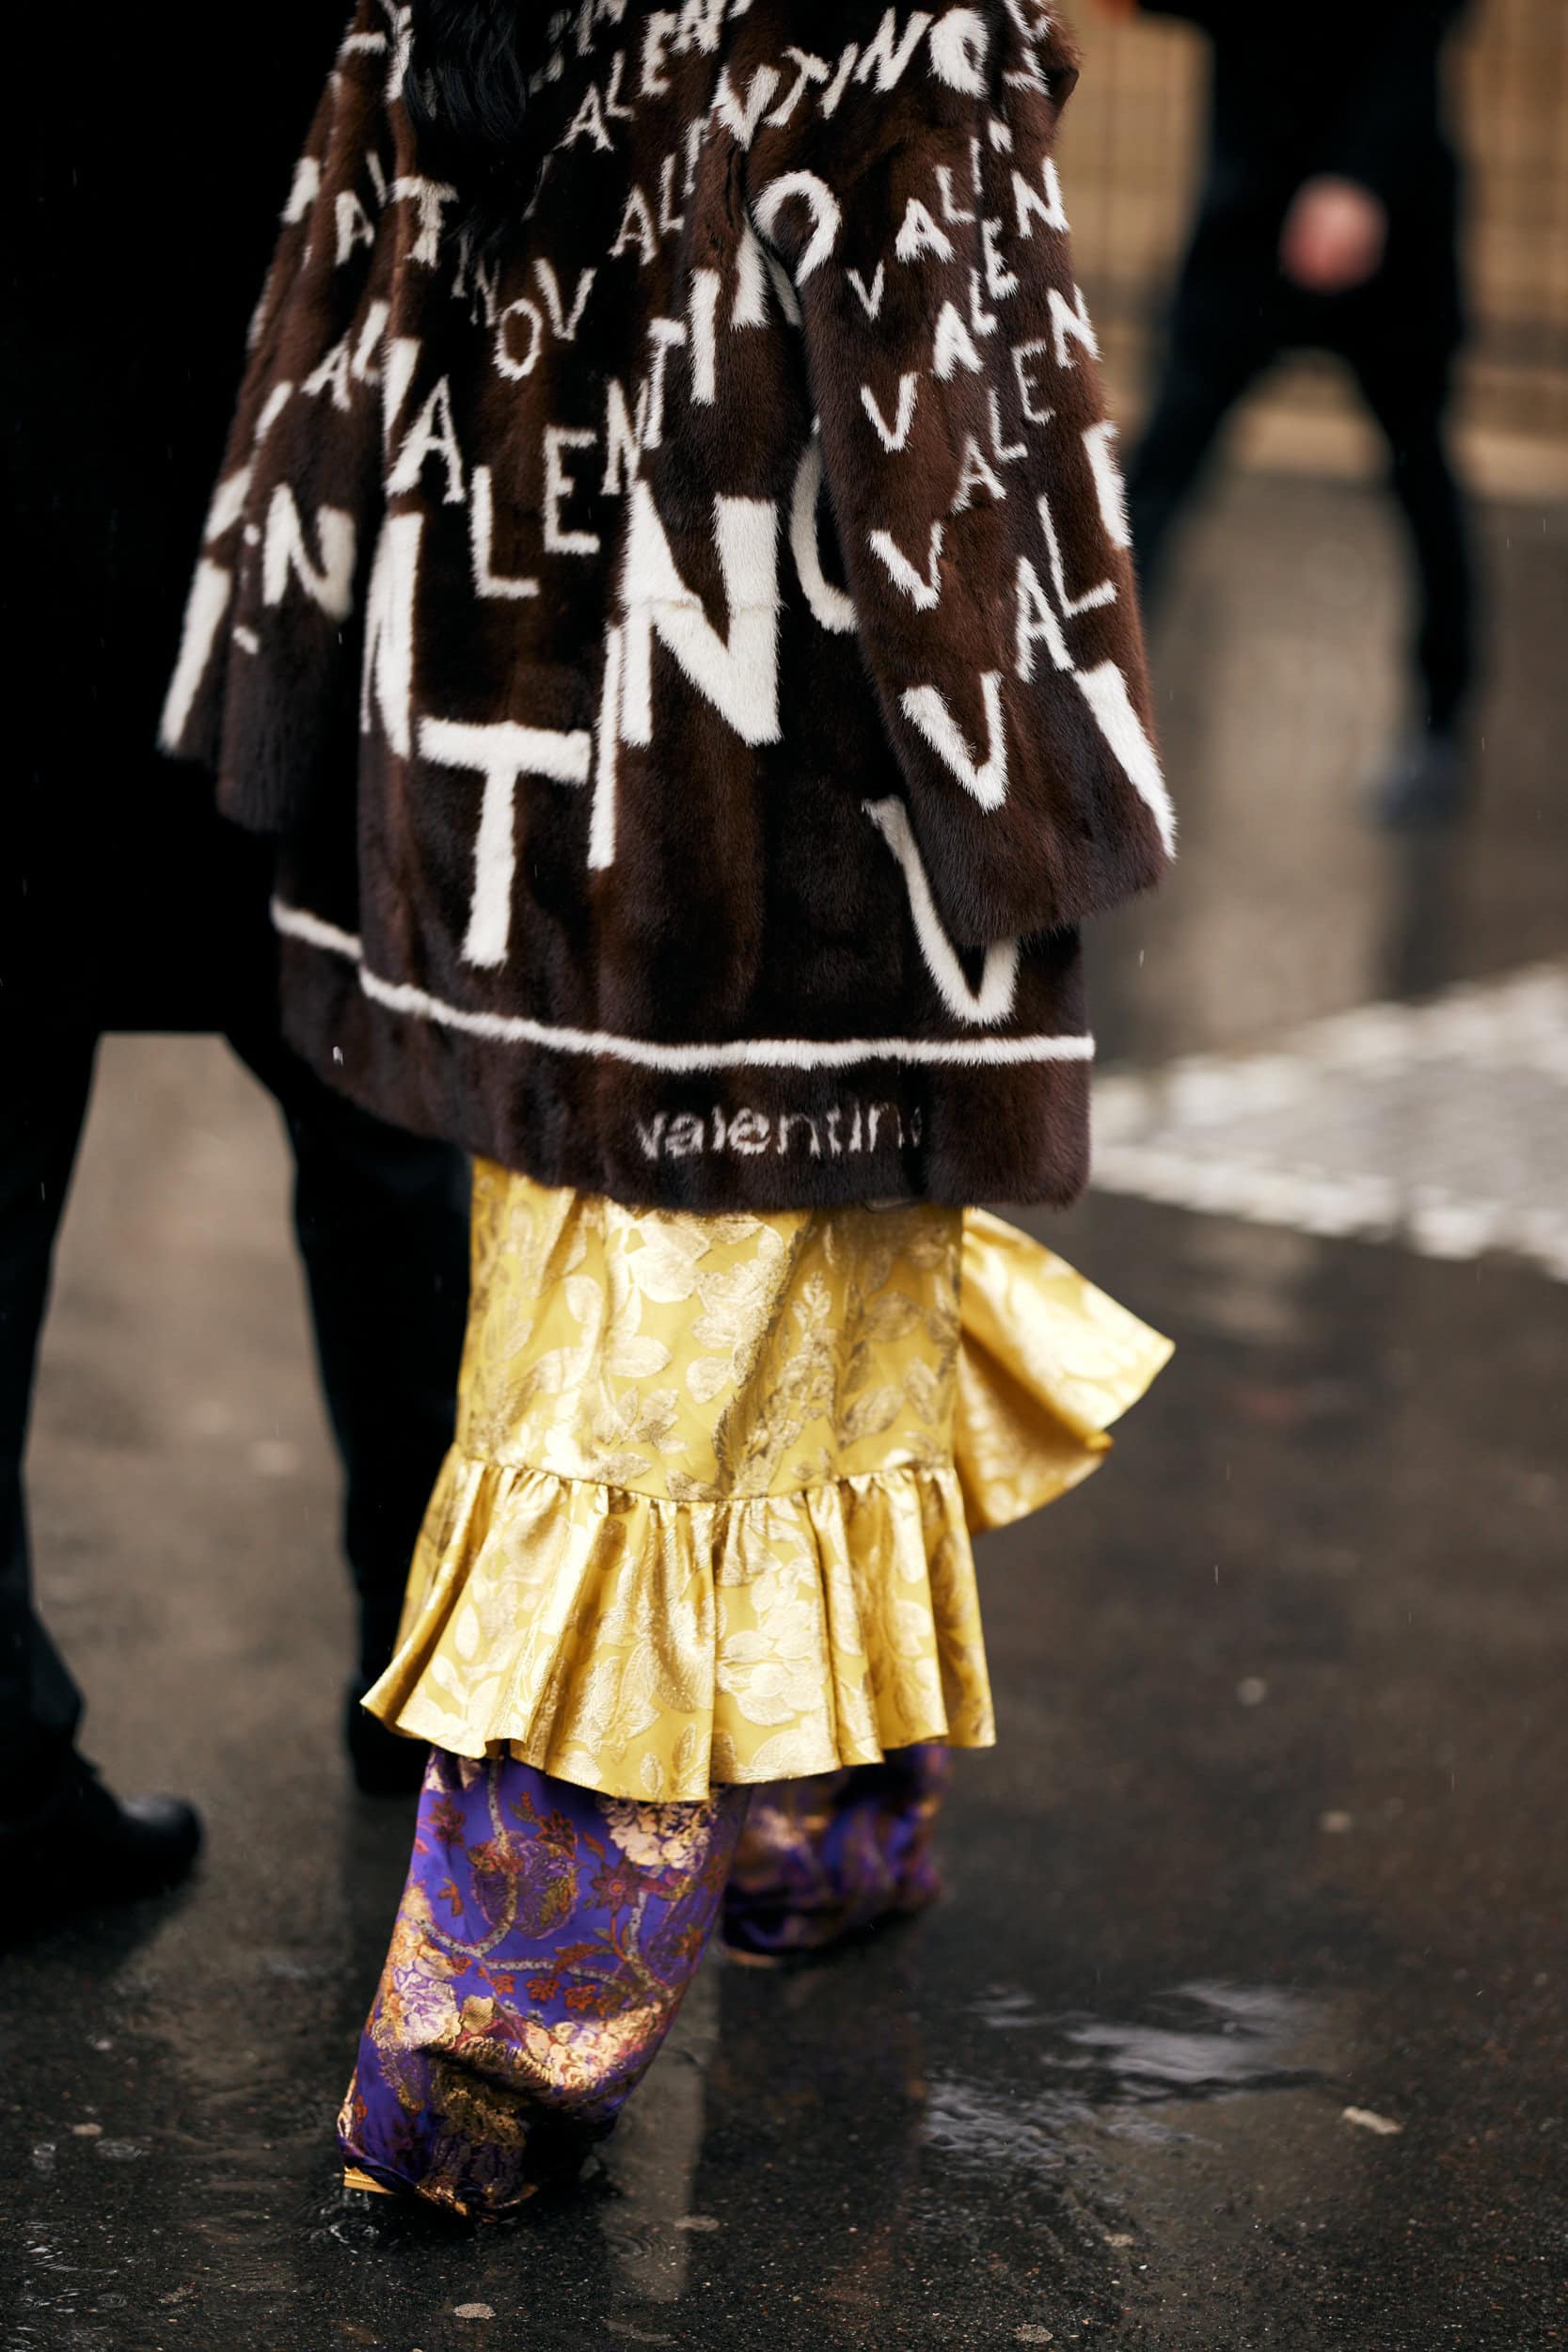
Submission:
M 1255 379 L 1286 348 L 1312 343 L 1309 318 L 1260 301 L 1262 275 L 1244 282 L 1208 278 L 1194 256 L 1178 296 L 1171 353 L 1143 445 L 1128 470 L 1133 546 L 1145 602 L 1164 583 L 1171 524 L 1187 506 L 1220 426 Z M 1298 306 L 1312 310 L 1312 303 Z M 1321 306 L 1324 341 L 1349 362 L 1361 397 L 1389 445 L 1389 487 L 1406 522 L 1418 621 L 1413 668 L 1422 717 L 1434 729 L 1460 720 L 1476 673 L 1474 576 L 1465 501 L 1448 461 L 1453 360 L 1429 336 L 1340 336 Z

